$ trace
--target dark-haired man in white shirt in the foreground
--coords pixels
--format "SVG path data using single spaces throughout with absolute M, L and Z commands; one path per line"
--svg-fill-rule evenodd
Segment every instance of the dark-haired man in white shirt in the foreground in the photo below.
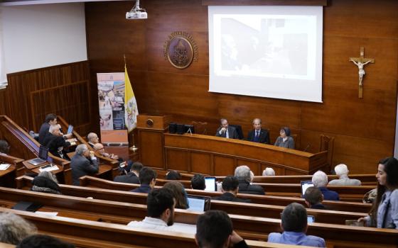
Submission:
M 151 230 L 185 232 L 195 234 L 195 225 L 174 223 L 176 199 L 168 188 L 154 189 L 148 193 L 146 200 L 147 213 L 144 220 L 131 221 L 127 226 Z

